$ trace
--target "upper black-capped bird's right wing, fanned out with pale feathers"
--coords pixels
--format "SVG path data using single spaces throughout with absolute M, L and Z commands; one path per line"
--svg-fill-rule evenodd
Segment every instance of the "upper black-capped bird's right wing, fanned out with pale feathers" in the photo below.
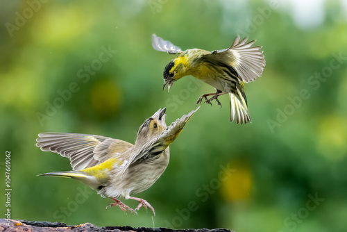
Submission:
M 239 35 L 228 49 L 212 51 L 210 60 L 218 60 L 231 65 L 241 81 L 250 82 L 262 76 L 265 59 L 262 47 L 252 47 L 256 40 L 247 42 L 248 38 L 240 40 Z

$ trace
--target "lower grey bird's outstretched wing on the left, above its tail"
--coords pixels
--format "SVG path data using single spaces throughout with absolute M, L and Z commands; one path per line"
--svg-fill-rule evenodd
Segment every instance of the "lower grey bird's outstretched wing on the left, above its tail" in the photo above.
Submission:
M 100 135 L 40 133 L 38 136 L 37 147 L 69 158 L 74 170 L 93 167 L 133 147 L 129 142 Z

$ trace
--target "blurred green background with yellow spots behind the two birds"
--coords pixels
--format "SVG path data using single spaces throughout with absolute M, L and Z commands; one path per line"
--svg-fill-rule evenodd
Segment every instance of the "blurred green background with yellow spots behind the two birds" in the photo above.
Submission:
M 13 219 L 347 230 L 346 1 L 0 4 L 0 179 L 10 151 Z M 170 124 L 214 91 L 189 76 L 163 92 L 162 71 L 174 56 L 152 49 L 152 33 L 182 49 L 210 51 L 229 47 L 237 34 L 257 40 L 266 67 L 245 87 L 253 123 L 229 122 L 227 96 L 219 98 L 221 109 L 203 104 L 171 144 L 167 171 L 135 195 L 151 203 L 155 217 L 105 209 L 111 200 L 82 183 L 36 176 L 71 169 L 67 158 L 35 147 L 37 133 L 134 142 L 158 108 L 167 106 Z M 0 207 L 6 212 L 3 201 Z

